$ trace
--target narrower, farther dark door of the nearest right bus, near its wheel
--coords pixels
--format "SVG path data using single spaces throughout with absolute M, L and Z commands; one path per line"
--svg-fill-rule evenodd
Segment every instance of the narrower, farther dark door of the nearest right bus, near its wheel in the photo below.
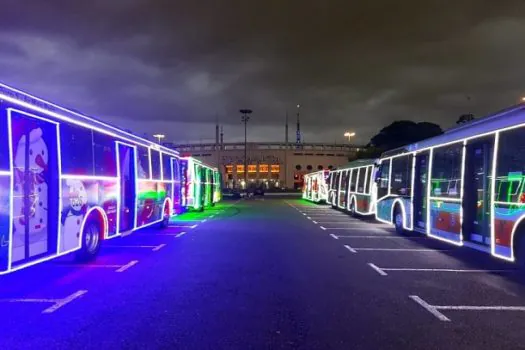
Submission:
M 416 169 L 414 174 L 414 227 L 426 230 L 427 222 L 427 194 L 428 194 L 428 162 L 430 152 L 425 151 L 416 155 Z

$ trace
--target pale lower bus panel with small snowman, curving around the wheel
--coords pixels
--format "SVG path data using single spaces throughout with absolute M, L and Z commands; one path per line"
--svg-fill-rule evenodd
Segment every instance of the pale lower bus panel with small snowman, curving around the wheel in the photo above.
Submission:
M 117 234 L 117 180 L 62 179 L 59 252 L 80 248 L 81 226 L 89 209 L 101 207 L 107 216 L 108 237 Z

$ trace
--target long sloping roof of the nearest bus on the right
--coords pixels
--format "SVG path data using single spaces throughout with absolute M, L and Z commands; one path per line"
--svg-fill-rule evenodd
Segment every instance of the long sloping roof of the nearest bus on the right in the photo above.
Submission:
M 454 143 L 477 135 L 495 132 L 520 124 L 525 124 L 525 104 L 519 104 L 496 113 L 489 114 L 480 119 L 453 127 L 443 134 L 431 137 L 413 144 L 395 148 L 384 152 L 381 157 L 391 157 L 405 152 L 415 152 L 425 148 L 439 146 L 441 144 Z

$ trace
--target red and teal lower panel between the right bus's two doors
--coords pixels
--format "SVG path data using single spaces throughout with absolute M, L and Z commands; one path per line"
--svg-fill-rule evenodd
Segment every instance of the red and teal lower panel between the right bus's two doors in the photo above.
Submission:
M 457 243 L 461 242 L 460 203 L 430 201 L 430 233 Z

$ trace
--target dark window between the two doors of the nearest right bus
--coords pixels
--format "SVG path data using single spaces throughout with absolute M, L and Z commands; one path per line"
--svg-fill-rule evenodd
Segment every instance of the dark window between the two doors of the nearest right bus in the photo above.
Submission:
M 459 198 L 461 192 L 462 152 L 462 143 L 434 149 L 431 170 L 431 196 Z

